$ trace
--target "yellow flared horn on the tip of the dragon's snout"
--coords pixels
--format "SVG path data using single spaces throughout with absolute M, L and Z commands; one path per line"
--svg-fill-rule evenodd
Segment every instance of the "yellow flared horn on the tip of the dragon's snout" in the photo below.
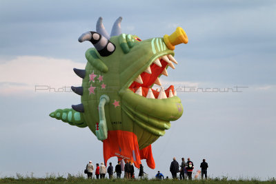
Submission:
M 177 30 L 170 34 L 170 36 L 168 36 L 168 34 L 165 34 L 163 38 L 167 47 L 170 50 L 175 50 L 175 45 L 178 45 L 180 43 L 188 43 L 186 32 L 180 27 L 177 27 Z

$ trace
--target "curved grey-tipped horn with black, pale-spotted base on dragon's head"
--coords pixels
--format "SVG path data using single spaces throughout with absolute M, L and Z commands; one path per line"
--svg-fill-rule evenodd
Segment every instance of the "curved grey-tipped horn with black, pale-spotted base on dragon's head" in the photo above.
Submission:
M 115 52 L 116 49 L 116 46 L 111 41 L 98 32 L 88 31 L 81 34 L 79 42 L 83 41 L 90 41 L 95 46 L 101 57 L 108 57 Z

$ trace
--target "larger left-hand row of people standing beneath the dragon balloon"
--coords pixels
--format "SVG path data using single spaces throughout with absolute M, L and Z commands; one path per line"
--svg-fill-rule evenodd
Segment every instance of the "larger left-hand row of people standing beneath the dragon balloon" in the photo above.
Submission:
M 86 170 L 84 173 L 87 174 L 88 178 L 92 179 L 93 175 L 93 170 L 94 170 L 94 165 L 92 165 L 92 161 L 89 161 L 89 163 L 86 165 Z M 106 173 L 108 173 L 109 178 L 113 178 L 113 174 L 116 173 L 117 178 L 121 178 L 121 161 L 118 161 L 118 164 L 115 166 L 115 171 L 113 172 L 113 166 L 112 163 L 109 163 L 108 169 L 106 170 L 106 165 L 102 162 L 101 165 L 99 163 L 96 163 L 96 171 L 95 175 L 96 178 L 106 178 Z M 135 178 L 135 173 L 134 173 L 134 166 L 132 162 L 126 161 L 126 164 L 124 165 L 124 172 L 125 172 L 125 178 Z M 140 164 L 139 167 L 139 177 L 144 176 L 144 166 Z

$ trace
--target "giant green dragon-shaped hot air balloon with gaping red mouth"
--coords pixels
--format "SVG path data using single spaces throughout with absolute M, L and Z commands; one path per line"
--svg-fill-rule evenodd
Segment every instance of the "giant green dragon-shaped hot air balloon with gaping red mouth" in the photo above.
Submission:
M 181 117 L 183 106 L 173 85 L 159 91 L 152 85 L 161 85 L 159 77 L 168 76 L 168 67 L 175 69 L 175 45 L 188 43 L 188 38 L 179 27 L 170 36 L 142 41 L 121 34 L 121 20 L 115 21 L 109 35 L 99 17 L 97 32 L 79 37 L 79 42 L 90 41 L 95 47 L 86 51 L 85 70 L 74 68 L 82 85 L 72 86 L 72 91 L 81 96 L 81 103 L 50 116 L 77 127 L 88 126 L 103 141 L 105 162 L 117 156 L 139 167 L 141 159 L 146 159 L 153 169 L 151 144 L 170 128 L 170 121 Z

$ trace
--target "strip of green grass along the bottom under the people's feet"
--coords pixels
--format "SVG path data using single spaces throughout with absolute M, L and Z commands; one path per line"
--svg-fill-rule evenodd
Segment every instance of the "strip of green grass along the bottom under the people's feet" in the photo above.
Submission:
M 22 176 L 21 174 L 17 174 L 17 177 L 3 177 L 0 178 L 0 183 L 114 183 L 114 184 L 121 184 L 121 183 L 133 183 L 133 184 L 146 184 L 146 183 L 186 183 L 186 184 L 208 184 L 208 183 L 217 183 L 217 184 L 223 184 L 223 183 L 243 183 L 243 184 L 256 184 L 256 183 L 275 183 L 276 184 L 276 178 L 270 178 L 268 181 L 259 181 L 256 178 L 248 178 L 248 179 L 228 179 L 226 176 L 222 176 L 221 178 L 208 178 L 208 180 L 201 181 L 200 179 L 193 180 L 193 181 L 179 181 L 179 180 L 156 180 L 156 179 L 148 179 L 144 178 L 141 180 L 138 179 L 86 179 L 85 176 L 82 174 L 79 174 L 77 176 L 73 176 L 71 174 L 68 174 L 67 178 L 64 178 L 63 176 L 55 176 L 50 175 L 46 176 L 45 178 L 35 178 L 33 176 Z

